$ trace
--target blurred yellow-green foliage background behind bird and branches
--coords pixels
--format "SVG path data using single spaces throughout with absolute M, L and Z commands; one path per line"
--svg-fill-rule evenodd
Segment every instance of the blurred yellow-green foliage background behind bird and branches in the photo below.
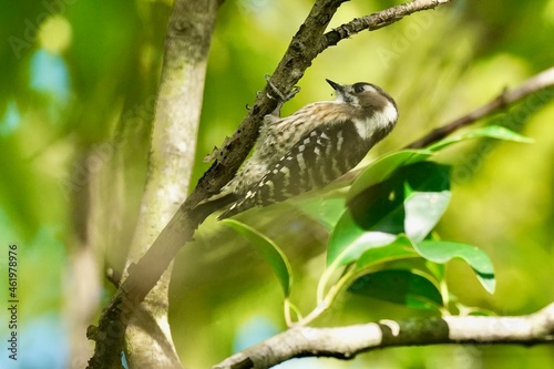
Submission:
M 230 135 L 308 13 L 307 0 L 227 0 L 212 43 L 193 183 L 202 157 Z M 331 28 L 399 1 L 350 1 Z M 44 0 L 0 4 L 0 273 L 18 245 L 19 360 L 2 368 L 82 368 L 84 328 L 113 293 L 146 176 L 148 135 L 171 1 Z M 463 1 L 362 32 L 319 55 L 284 107 L 332 99 L 325 79 L 381 85 L 398 102 L 396 131 L 370 154 L 402 147 L 554 64 L 554 2 Z M 468 306 L 529 314 L 554 300 L 554 93 L 530 98 L 482 124 L 533 144 L 475 141 L 441 156 L 454 165 L 453 198 L 438 232 L 491 256 L 484 291 L 462 263 L 450 288 Z M 294 204 L 242 217 L 287 253 L 293 300 L 308 311 L 325 265 L 326 230 Z M 178 255 L 171 325 L 189 368 L 208 367 L 285 328 L 270 268 L 232 230 L 208 219 Z M 7 304 L 7 303 L 6 303 Z M 342 294 L 316 325 L 430 312 Z M 0 308 L 4 342 L 7 309 Z M 283 368 L 552 368 L 554 347 L 394 348 L 353 361 L 293 360 Z

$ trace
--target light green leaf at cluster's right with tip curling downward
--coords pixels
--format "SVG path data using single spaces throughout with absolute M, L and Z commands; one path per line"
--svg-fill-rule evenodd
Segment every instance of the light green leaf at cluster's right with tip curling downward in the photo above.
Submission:
M 447 240 L 424 240 L 414 248 L 433 263 L 444 264 L 455 257 L 463 259 L 473 268 L 484 289 L 490 294 L 494 293 L 494 267 L 486 253 L 479 247 Z

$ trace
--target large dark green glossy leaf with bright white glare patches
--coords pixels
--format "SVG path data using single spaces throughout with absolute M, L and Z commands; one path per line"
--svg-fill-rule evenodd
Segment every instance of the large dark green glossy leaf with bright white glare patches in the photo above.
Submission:
M 332 229 L 327 265 L 349 264 L 369 248 L 392 243 L 406 225 L 409 235 L 423 239 L 450 198 L 448 171 L 433 162 L 416 163 L 359 193 Z

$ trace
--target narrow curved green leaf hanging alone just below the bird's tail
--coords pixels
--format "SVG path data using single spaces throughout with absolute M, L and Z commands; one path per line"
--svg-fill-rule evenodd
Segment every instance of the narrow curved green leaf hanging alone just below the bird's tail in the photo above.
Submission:
M 223 224 L 232 227 L 242 236 L 248 239 L 257 249 L 264 255 L 264 258 L 269 263 L 279 279 L 279 283 L 285 293 L 285 297 L 290 295 L 290 287 L 293 285 L 293 271 L 287 256 L 283 250 L 269 238 L 259 233 L 258 230 L 247 226 L 244 223 L 235 219 L 224 219 Z

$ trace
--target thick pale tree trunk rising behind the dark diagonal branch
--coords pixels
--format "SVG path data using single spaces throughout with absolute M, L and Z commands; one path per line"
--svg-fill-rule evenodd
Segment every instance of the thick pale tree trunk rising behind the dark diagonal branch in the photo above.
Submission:
M 194 165 L 207 55 L 220 0 L 175 0 L 166 35 L 146 188 L 127 266 L 185 201 Z M 167 321 L 172 267 L 130 320 L 130 368 L 181 368 Z

